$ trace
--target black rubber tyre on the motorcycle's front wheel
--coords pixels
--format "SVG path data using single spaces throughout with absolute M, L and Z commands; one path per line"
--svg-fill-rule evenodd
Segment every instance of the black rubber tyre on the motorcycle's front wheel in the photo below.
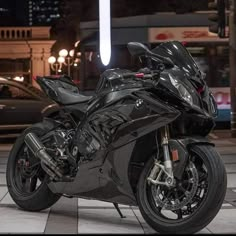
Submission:
M 191 157 L 197 157 L 198 163 L 203 162 L 207 169 L 207 177 L 205 177 L 207 190 L 202 199 L 199 200 L 199 205 L 197 205 L 196 209 L 193 207 L 194 211 L 190 211 L 189 216 L 187 216 L 188 214 L 186 213 L 186 217 L 183 217 L 185 214 L 182 210 L 183 207 L 180 209 L 183 215 L 181 213 L 181 216 L 179 217 L 178 215 L 177 219 L 165 218 L 163 217 L 163 213 L 161 213 L 163 209 L 160 209 L 159 205 L 156 205 L 155 208 L 151 203 L 152 201 L 148 195 L 148 189 L 151 187 L 149 187 L 147 183 L 147 177 L 154 164 L 152 158 L 146 163 L 141 173 L 137 186 L 137 202 L 146 222 L 159 233 L 192 234 L 198 232 L 214 219 L 224 201 L 227 188 L 227 176 L 219 154 L 212 146 L 204 145 L 191 147 L 190 153 Z M 199 161 L 200 159 L 202 161 Z M 198 172 L 198 174 L 200 176 L 200 172 Z M 195 194 L 194 197 L 196 195 L 197 194 Z M 170 211 L 174 214 L 174 211 Z M 185 212 L 187 212 L 187 210 Z

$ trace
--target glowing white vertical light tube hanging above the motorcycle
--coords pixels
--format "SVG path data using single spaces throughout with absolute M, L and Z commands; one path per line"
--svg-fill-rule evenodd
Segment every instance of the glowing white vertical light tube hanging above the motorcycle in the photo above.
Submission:
M 102 63 L 111 59 L 111 0 L 99 0 L 99 38 Z

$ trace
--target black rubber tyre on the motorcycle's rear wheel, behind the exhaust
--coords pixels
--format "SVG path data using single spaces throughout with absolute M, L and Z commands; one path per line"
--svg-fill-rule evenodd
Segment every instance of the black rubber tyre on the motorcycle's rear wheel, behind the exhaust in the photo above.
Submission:
M 22 157 L 20 157 L 20 154 L 22 154 L 23 152 L 22 150 L 26 147 L 26 144 L 24 143 L 24 137 L 29 132 L 34 132 L 36 135 L 41 137 L 48 132 L 48 129 L 46 128 L 44 123 L 37 123 L 32 127 L 26 129 L 22 133 L 22 135 L 18 137 L 8 157 L 6 172 L 7 186 L 12 199 L 20 208 L 27 211 L 41 211 L 49 208 L 54 203 L 56 203 L 59 200 L 60 195 L 54 194 L 49 189 L 47 185 L 48 175 L 46 175 L 46 173 L 43 171 L 40 164 L 37 166 L 37 170 L 33 169 L 33 171 L 35 171 L 35 173 L 37 172 L 37 174 L 39 175 L 37 178 L 39 178 L 40 180 L 37 180 L 36 176 L 33 176 L 30 180 L 25 176 L 18 176 L 18 174 L 22 172 L 19 167 L 19 160 L 20 162 L 24 160 Z M 40 161 L 38 158 L 32 155 L 30 156 L 30 159 L 34 163 Z M 25 175 L 30 176 L 31 174 L 29 171 L 26 171 Z M 37 181 L 40 182 L 40 185 L 37 189 L 36 184 L 32 184 L 33 178 L 36 183 Z M 22 181 L 24 180 L 23 182 L 25 184 L 20 183 L 19 179 L 21 179 Z M 23 185 L 26 185 L 26 182 L 29 182 L 30 184 L 30 191 L 24 191 L 25 188 L 22 187 Z M 31 185 L 35 185 L 35 190 L 32 192 Z

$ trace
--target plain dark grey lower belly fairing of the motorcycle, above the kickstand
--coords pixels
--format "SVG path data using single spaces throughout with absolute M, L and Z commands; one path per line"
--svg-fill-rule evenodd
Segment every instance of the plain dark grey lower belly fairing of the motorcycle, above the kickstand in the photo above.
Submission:
M 54 193 L 136 205 L 128 178 L 129 161 L 135 143 L 133 141 L 109 152 L 100 167 L 91 168 L 89 162 L 82 164 L 74 182 L 50 182 L 49 188 Z

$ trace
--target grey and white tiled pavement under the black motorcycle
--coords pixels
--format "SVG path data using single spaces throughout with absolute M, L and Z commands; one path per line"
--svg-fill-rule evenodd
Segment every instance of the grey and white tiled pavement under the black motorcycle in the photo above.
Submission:
M 222 209 L 199 234 L 236 233 L 236 141 L 212 136 L 227 169 L 228 189 Z M 153 234 L 137 207 L 121 205 L 121 219 L 111 203 L 61 198 L 50 209 L 32 213 L 20 210 L 6 187 L 9 147 L 0 145 L 0 234 Z

